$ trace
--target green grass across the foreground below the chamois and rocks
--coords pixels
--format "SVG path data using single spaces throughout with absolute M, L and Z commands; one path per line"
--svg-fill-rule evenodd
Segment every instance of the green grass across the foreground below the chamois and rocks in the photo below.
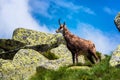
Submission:
M 107 57 L 93 65 L 90 70 L 68 70 L 68 67 L 62 67 L 54 71 L 39 68 L 30 80 L 120 80 L 120 68 L 110 67 L 109 59 Z

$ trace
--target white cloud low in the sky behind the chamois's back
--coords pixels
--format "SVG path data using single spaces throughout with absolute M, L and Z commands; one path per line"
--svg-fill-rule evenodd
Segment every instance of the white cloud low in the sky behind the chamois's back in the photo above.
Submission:
M 99 29 L 87 23 L 79 23 L 78 31 L 80 37 L 91 40 L 95 43 L 96 49 L 103 54 L 110 54 L 120 43 L 117 35 L 107 36 Z

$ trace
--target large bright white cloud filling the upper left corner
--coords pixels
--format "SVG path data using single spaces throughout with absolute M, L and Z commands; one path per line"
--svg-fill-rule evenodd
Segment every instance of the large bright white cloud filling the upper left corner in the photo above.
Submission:
M 18 27 L 50 32 L 31 16 L 29 0 L 0 0 L 0 38 L 11 38 Z

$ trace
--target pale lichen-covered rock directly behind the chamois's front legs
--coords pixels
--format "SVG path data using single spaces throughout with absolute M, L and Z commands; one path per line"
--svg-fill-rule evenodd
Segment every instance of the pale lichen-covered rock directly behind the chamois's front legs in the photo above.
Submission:
M 66 45 L 61 44 L 58 47 L 51 49 L 50 52 L 57 56 L 58 59 L 49 60 L 45 64 L 40 65 L 39 67 L 58 70 L 60 67 L 73 64 L 71 52 L 67 49 Z M 85 58 L 83 55 L 79 56 L 78 60 L 79 63 L 85 63 Z

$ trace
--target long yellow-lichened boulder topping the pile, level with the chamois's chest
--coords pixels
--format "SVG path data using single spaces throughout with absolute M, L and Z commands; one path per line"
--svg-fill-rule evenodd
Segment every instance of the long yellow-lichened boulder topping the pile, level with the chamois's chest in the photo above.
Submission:
M 57 46 L 65 43 L 61 34 L 49 34 L 24 28 L 17 28 L 13 32 L 12 38 L 27 45 L 51 44 Z

